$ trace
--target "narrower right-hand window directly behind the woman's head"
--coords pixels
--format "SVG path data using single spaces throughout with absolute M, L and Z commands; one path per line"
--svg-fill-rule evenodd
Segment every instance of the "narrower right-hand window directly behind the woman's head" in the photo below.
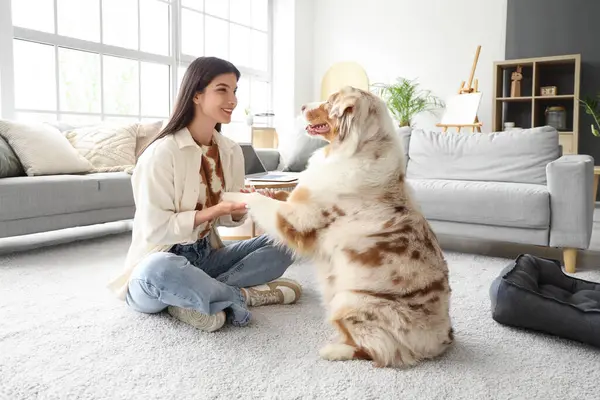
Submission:
M 251 139 L 246 111 L 271 109 L 270 37 L 268 0 L 181 0 L 181 72 L 203 54 L 227 59 L 242 72 L 238 106 L 223 126 L 238 141 Z

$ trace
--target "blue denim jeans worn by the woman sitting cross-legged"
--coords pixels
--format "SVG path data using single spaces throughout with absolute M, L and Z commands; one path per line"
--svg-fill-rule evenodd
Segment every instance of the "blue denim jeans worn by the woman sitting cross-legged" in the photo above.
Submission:
M 277 279 L 292 262 L 285 249 L 264 235 L 221 249 L 213 249 L 208 238 L 177 244 L 137 265 L 129 279 L 126 302 L 143 313 L 158 313 L 167 306 L 204 314 L 225 311 L 231 324 L 244 326 L 250 312 L 240 288 Z

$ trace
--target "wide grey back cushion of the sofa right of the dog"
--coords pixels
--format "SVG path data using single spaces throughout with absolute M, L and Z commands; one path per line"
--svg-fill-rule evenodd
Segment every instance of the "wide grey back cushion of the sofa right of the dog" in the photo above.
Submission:
M 546 126 L 494 133 L 413 130 L 407 177 L 546 184 L 558 132 Z

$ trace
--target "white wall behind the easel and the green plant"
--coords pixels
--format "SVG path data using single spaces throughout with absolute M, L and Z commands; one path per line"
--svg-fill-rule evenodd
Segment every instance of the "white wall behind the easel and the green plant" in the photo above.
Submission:
M 275 0 L 279 2 L 282 0 Z M 475 78 L 482 92 L 482 131 L 492 123 L 493 62 L 504 60 L 507 0 L 318 0 L 313 26 L 298 34 L 313 39 L 312 94 L 338 61 L 356 61 L 371 83 L 418 78 L 422 88 L 443 99 L 468 80 L 477 45 Z M 312 75 L 312 76 L 311 76 Z M 435 129 L 439 118 L 424 115 L 417 126 Z

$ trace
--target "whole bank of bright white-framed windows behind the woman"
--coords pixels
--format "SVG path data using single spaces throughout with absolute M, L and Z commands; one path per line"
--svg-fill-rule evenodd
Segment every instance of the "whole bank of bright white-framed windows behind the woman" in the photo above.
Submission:
M 223 131 L 249 140 L 244 110 L 271 107 L 269 2 L 12 0 L 8 109 L 37 121 L 168 118 L 187 66 L 216 56 L 242 72 L 238 108 Z

